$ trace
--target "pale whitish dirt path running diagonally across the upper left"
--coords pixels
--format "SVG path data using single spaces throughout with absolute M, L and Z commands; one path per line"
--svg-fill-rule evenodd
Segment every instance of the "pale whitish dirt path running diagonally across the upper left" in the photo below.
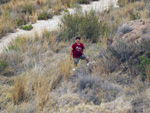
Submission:
M 104 9 L 109 8 L 111 5 L 117 7 L 117 0 L 100 0 L 96 2 L 92 2 L 89 5 L 81 5 L 83 11 L 89 11 L 94 9 L 96 11 L 103 11 Z M 73 13 L 75 9 L 68 9 L 70 13 Z M 62 14 L 63 15 L 63 14 Z M 40 20 L 33 24 L 33 29 L 31 31 L 24 31 L 21 29 L 17 29 L 15 33 L 9 33 L 7 36 L 3 37 L 0 40 L 0 52 L 3 52 L 4 48 L 6 48 L 12 40 L 19 36 L 34 36 L 35 32 L 39 35 L 42 33 L 44 29 L 53 31 L 58 29 L 58 23 L 60 23 L 60 18 L 62 15 L 54 16 L 52 19 L 49 20 Z

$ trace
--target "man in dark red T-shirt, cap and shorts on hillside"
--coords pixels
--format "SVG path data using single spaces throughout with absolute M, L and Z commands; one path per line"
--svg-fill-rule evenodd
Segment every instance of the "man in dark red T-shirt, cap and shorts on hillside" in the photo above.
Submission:
M 81 38 L 76 37 L 75 43 L 71 47 L 70 61 L 74 61 L 75 67 L 77 67 L 79 60 L 86 60 L 87 66 L 89 65 L 89 58 L 84 54 L 84 45 L 80 42 Z M 74 69 L 75 70 L 75 69 Z

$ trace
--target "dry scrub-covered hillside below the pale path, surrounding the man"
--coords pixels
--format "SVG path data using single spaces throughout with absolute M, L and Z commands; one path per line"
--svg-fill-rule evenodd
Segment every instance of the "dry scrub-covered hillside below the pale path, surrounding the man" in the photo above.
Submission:
M 0 112 L 150 113 L 150 1 L 118 6 L 66 13 L 58 30 L 11 42 L 0 53 Z M 76 36 L 91 65 L 72 72 Z

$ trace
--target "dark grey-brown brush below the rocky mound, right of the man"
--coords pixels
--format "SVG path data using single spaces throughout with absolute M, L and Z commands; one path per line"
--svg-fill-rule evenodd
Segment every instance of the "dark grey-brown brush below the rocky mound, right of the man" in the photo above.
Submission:
M 106 50 L 100 51 L 100 66 L 98 70 L 100 73 L 113 73 L 116 70 L 127 71 L 130 75 L 138 75 L 140 72 L 145 73 L 145 66 L 148 64 L 148 59 L 140 57 L 140 55 L 149 55 L 147 45 L 143 43 L 124 43 L 118 41 L 113 46 L 108 46 Z M 146 52 L 143 52 L 146 51 Z M 140 64 L 141 70 L 137 67 Z

